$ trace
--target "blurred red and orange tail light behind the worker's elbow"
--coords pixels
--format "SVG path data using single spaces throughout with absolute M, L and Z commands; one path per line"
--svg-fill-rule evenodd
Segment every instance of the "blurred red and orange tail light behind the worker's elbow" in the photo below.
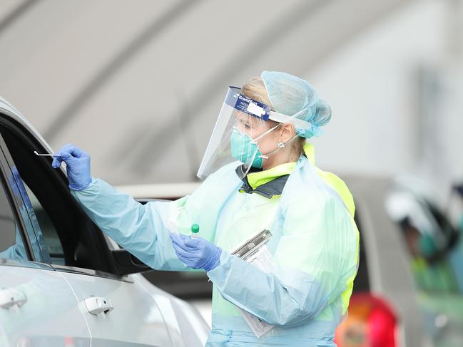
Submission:
M 338 347 L 397 347 L 397 318 L 384 299 L 352 294 L 349 314 L 335 333 Z

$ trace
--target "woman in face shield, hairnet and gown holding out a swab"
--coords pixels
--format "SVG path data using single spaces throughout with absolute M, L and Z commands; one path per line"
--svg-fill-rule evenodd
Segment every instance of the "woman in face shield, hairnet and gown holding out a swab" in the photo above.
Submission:
M 92 178 L 90 157 L 73 145 L 53 166 L 66 162 L 73 196 L 138 259 L 153 269 L 207 271 L 206 346 L 335 346 L 357 272 L 355 207 L 344 183 L 315 167 L 305 142 L 330 117 L 309 83 L 264 71 L 228 89 L 198 171 L 205 180 L 192 195 L 139 204 Z M 259 264 L 232 254 L 263 230 L 271 237 Z

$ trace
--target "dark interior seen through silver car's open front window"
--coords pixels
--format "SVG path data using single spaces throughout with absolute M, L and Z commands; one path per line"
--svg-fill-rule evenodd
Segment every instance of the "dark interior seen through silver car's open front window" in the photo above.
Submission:
M 108 248 L 102 232 L 69 192 L 63 172 L 51 167 L 51 157 L 34 154 L 45 149 L 24 126 L 0 115 L 0 134 L 14 162 L 10 165 L 16 165 L 31 197 L 53 264 L 117 275 L 149 269 L 125 250 Z

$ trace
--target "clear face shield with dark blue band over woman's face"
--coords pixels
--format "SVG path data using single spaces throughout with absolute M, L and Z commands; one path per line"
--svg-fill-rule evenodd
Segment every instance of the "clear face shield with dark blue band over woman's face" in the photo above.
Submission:
M 269 119 L 278 118 L 278 115 L 271 112 L 268 105 L 240 94 L 240 88 L 229 87 L 200 164 L 198 177 L 204 180 L 220 167 L 232 163 L 235 163 L 235 168 L 240 167 L 237 170 L 240 178 L 245 177 L 251 167 L 261 168 L 267 155 L 276 150 L 263 155 L 259 143 L 278 128 L 278 125 L 270 128 L 268 122 Z M 282 122 L 285 118 L 290 117 L 280 115 L 281 120 L 275 120 Z

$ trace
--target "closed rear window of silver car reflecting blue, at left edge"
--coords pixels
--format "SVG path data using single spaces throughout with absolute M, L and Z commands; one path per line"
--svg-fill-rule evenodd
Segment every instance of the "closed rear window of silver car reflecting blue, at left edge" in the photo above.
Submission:
M 0 258 L 27 260 L 26 247 L 18 223 L 5 192 L 0 184 Z

